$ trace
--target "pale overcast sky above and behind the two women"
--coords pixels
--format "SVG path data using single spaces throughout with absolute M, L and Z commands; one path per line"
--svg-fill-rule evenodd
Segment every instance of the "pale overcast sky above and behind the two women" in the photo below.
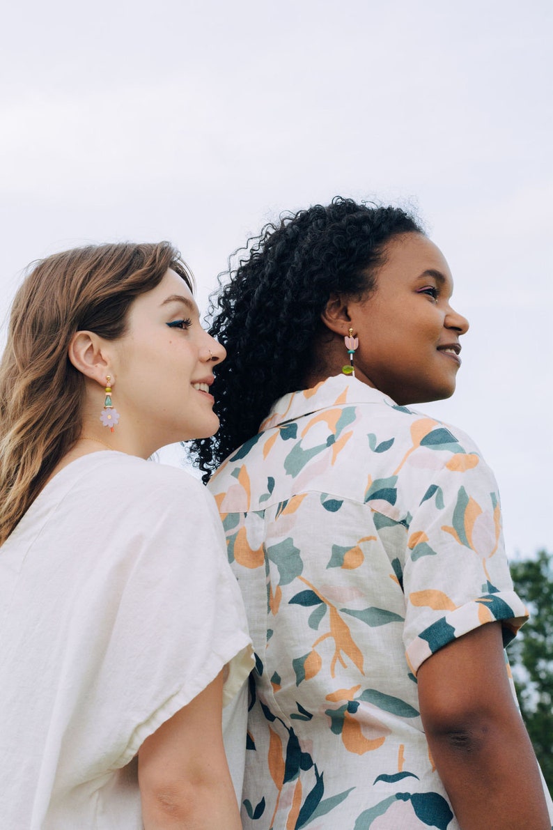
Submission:
M 458 391 L 507 551 L 553 549 L 550 0 L 11 4 L 0 316 L 29 261 L 170 239 L 198 283 L 285 209 L 410 204 L 468 316 Z

